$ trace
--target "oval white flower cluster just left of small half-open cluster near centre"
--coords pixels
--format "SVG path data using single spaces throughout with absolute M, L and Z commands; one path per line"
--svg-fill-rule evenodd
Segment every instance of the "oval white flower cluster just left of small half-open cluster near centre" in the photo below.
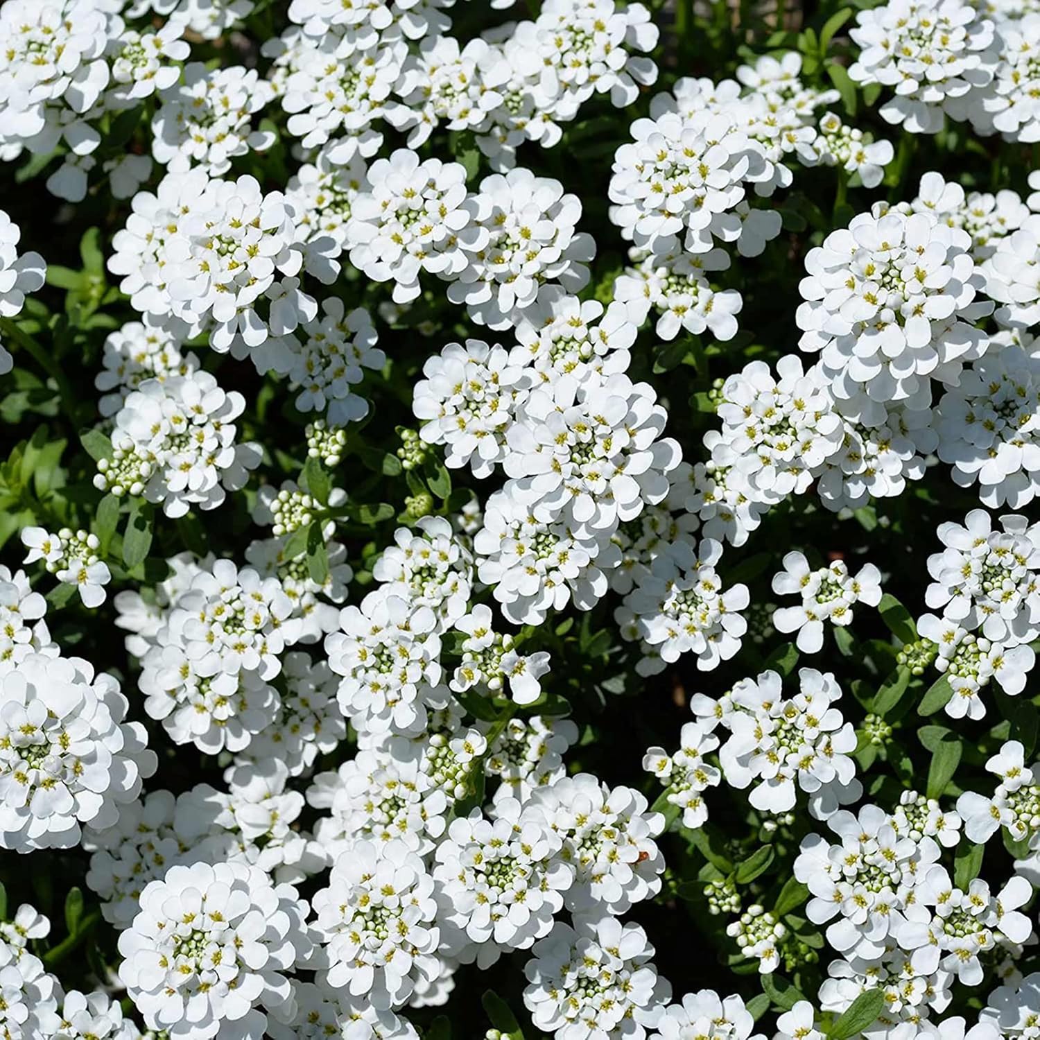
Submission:
M 441 679 L 441 640 L 428 606 L 369 593 L 340 612 L 341 631 L 326 639 L 329 667 L 343 676 L 339 705 L 355 728 L 414 733 L 425 726 L 425 703 Z

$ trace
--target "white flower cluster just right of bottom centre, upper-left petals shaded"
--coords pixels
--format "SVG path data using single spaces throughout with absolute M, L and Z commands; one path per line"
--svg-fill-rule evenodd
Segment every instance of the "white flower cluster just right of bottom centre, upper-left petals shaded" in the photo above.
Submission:
M 593 917 L 575 930 L 557 922 L 524 965 L 523 1000 L 536 1029 L 556 1040 L 644 1040 L 671 995 L 653 954 L 639 925 Z

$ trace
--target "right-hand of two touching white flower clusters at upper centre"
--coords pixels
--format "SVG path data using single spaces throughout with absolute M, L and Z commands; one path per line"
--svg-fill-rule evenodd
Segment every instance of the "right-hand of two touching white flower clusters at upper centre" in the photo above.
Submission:
M 516 324 L 546 283 L 570 293 L 588 284 L 582 261 L 592 260 L 596 243 L 575 231 L 581 202 L 565 194 L 560 181 L 522 167 L 492 174 L 467 197 L 466 211 L 448 300 L 466 304 L 478 324 L 496 330 Z

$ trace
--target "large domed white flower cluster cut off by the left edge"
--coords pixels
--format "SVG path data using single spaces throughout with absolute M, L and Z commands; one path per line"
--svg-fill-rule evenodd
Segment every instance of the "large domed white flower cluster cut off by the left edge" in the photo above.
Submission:
M 70 849 L 109 827 L 156 769 L 145 727 L 110 675 L 80 657 L 29 654 L 0 678 L 0 846 Z

